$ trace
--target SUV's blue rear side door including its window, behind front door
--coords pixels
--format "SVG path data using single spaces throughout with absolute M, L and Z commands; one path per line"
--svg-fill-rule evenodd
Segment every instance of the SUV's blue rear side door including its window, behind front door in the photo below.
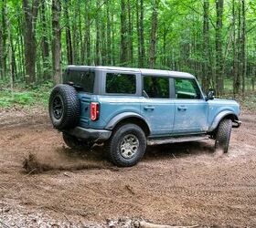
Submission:
M 147 120 L 152 135 L 170 135 L 173 129 L 175 105 L 170 98 L 170 78 L 143 76 L 141 113 Z

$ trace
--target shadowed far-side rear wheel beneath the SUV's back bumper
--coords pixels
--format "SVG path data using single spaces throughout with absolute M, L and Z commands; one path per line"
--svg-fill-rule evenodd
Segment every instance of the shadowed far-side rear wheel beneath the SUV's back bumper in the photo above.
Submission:
M 84 140 L 77 139 L 74 136 L 71 136 L 67 133 L 63 133 L 63 140 L 65 141 L 66 145 L 74 150 L 90 150 L 93 146 L 92 142 L 87 142 Z

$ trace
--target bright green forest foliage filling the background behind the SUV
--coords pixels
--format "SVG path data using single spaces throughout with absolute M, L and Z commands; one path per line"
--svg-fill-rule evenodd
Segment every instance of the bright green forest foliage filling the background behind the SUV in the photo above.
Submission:
M 124 1 L 124 0 L 123 0 Z M 28 0 L 28 5 L 32 7 L 37 1 Z M 149 67 L 149 55 L 152 13 L 155 1 L 128 1 L 126 5 L 125 21 L 121 21 L 122 7 L 121 2 L 117 0 L 61 0 L 61 67 L 68 64 L 75 65 L 113 65 L 138 67 L 140 45 L 144 46 L 143 67 Z M 143 2 L 143 7 L 140 7 Z M 204 15 L 204 3 L 208 2 L 208 19 Z M 237 55 L 241 58 L 241 41 L 238 37 L 242 32 L 242 12 L 240 0 L 225 0 L 223 12 L 222 36 L 222 54 L 223 54 L 223 94 L 229 96 L 233 93 L 234 80 L 234 50 L 237 49 Z M 25 53 L 25 34 L 29 33 L 29 26 L 25 23 L 25 10 L 23 1 L 0 1 L 0 59 L 4 59 L 4 65 L 0 63 L 0 107 L 12 106 L 32 106 L 37 102 L 47 104 L 48 90 L 52 87 L 51 82 L 27 86 L 26 80 L 26 53 Z M 245 3 L 245 28 L 246 28 L 246 72 L 242 66 L 241 59 L 238 60 L 238 75 L 240 78 L 239 92 L 242 88 L 242 80 L 245 82 L 245 94 L 251 94 L 251 78 L 255 78 L 256 63 L 256 1 L 247 0 Z M 233 16 L 234 4 L 234 16 Z M 67 14 L 66 14 L 67 13 Z M 156 61 L 155 68 L 172 69 L 186 71 L 197 76 L 202 82 L 208 75 L 210 84 L 208 88 L 216 88 L 215 79 L 218 78 L 218 55 L 216 53 L 216 0 L 195 1 L 195 0 L 160 0 L 157 9 L 157 32 L 156 32 Z M 42 82 L 53 79 L 53 58 L 52 44 L 54 36 L 52 33 L 52 1 L 41 1 L 38 7 L 38 14 L 35 16 L 35 36 L 37 43 L 36 72 L 33 80 Z M 140 24 L 140 16 L 143 15 L 143 23 Z M 137 18 L 138 16 L 138 18 Z M 235 21 L 233 21 L 235 20 Z M 208 49 L 205 44 L 204 22 L 208 22 Z M 8 22 L 8 23 L 7 23 Z M 98 26 L 97 26 L 98 25 Z M 125 36 L 128 40 L 125 42 L 126 49 L 129 49 L 129 59 L 121 60 L 121 28 L 123 25 L 128 29 Z M 131 27 L 130 27 L 131 26 Z M 144 30 L 144 42 L 139 39 L 139 30 Z M 131 31 L 130 31 L 131 29 Z M 8 37 L 10 32 L 10 37 Z M 69 33 L 68 33 L 69 32 Z M 69 37 L 69 36 L 70 37 Z M 234 36 L 234 37 L 233 37 Z M 68 39 L 69 37 L 69 39 Z M 2 40 L 1 40 L 2 38 Z M 8 39 L 11 40 L 8 40 Z M 128 41 L 132 41 L 129 46 Z M 96 47 L 98 44 L 98 52 Z M 236 44 L 236 49 L 233 49 Z M 12 58 L 9 57 L 9 46 L 12 51 Z M 34 48 L 34 47 L 33 47 Z M 70 50 L 69 50 L 70 48 Z M 207 54 L 207 55 L 206 55 Z M 206 57 L 208 56 L 209 59 Z M 69 61 L 69 58 L 72 58 Z M 95 60 L 98 59 L 99 63 Z M 210 60 L 210 61 L 209 61 Z M 122 62 L 125 61 L 125 62 Z M 10 70 L 12 65 L 12 70 Z M 5 67 L 5 70 L 3 70 Z M 207 70 L 205 70 L 207 67 Z M 208 74 L 206 73 L 208 72 Z M 245 72 L 245 76 L 244 73 Z M 16 85 L 13 97 L 10 90 L 9 78 L 12 75 Z M 244 76 L 244 77 L 243 77 Z M 222 78 L 220 78 L 222 79 Z M 255 79 L 254 79 L 255 80 Z M 7 82 L 7 83 L 6 83 Z M 19 84 L 17 84 L 19 83 Z M 222 88 L 221 88 L 222 89 Z

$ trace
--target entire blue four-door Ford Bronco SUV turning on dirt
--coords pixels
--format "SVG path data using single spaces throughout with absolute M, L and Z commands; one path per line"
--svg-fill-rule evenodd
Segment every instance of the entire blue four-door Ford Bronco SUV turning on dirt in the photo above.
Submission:
M 51 91 L 49 117 L 72 149 L 104 142 L 113 164 L 133 166 L 147 145 L 215 140 L 228 152 L 240 105 L 205 96 L 194 76 L 176 71 L 69 66 Z

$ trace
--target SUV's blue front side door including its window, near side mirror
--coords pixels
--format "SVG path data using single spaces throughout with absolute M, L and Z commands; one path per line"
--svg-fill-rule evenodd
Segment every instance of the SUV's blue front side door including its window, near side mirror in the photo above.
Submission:
M 197 134 L 208 130 L 208 102 L 203 98 L 195 78 L 174 78 L 176 134 Z

